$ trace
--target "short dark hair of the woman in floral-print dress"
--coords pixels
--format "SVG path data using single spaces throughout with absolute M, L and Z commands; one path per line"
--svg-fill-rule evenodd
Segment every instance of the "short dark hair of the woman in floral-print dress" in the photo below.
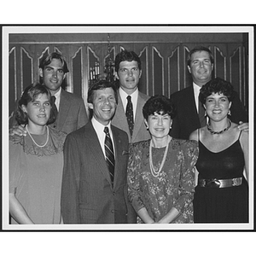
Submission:
M 143 106 L 143 117 L 148 120 L 148 116 L 154 113 L 168 114 L 171 119 L 176 115 L 176 109 L 172 100 L 163 95 L 152 96 Z

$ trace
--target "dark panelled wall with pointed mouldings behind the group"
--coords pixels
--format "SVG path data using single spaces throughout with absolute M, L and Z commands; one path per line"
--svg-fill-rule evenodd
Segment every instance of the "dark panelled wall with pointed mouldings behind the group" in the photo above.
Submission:
M 17 34 L 10 35 L 9 44 L 9 108 L 20 97 L 23 87 L 39 81 L 38 65 L 41 58 L 52 51 L 61 52 L 67 60 L 69 73 L 66 90 L 83 96 L 86 104 L 90 67 L 100 63 L 100 73 L 111 49 L 111 58 L 122 49 L 134 50 L 143 63 L 139 88 L 153 96 L 171 96 L 192 83 L 187 68 L 189 50 L 203 45 L 214 55 L 214 77 L 230 80 L 247 106 L 247 42 L 237 34 L 138 34 L 112 33 L 110 44 L 107 34 Z

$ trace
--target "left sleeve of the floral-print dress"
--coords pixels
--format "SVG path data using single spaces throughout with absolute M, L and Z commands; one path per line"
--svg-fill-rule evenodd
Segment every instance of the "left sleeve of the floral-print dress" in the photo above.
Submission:
M 136 144 L 137 145 L 137 144 Z M 144 207 L 140 196 L 139 173 L 141 170 L 142 154 L 134 144 L 129 145 L 129 160 L 127 167 L 128 199 L 132 207 L 138 212 Z

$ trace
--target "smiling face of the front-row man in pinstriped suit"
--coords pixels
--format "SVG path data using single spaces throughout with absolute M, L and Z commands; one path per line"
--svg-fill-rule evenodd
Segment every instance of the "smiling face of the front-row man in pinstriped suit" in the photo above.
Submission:
M 88 103 L 88 106 L 93 110 L 93 116 L 98 122 L 102 125 L 108 125 L 116 108 L 113 89 L 95 90 L 93 103 Z

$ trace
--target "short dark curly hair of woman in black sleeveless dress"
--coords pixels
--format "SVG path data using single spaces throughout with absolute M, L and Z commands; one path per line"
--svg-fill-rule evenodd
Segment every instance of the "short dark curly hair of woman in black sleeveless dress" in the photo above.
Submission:
M 230 82 L 216 78 L 210 80 L 207 84 L 203 85 L 200 90 L 199 100 L 203 104 L 207 101 L 207 96 L 212 95 L 212 93 L 223 93 L 224 96 L 228 97 L 229 102 L 232 102 L 234 99 L 234 89 Z

